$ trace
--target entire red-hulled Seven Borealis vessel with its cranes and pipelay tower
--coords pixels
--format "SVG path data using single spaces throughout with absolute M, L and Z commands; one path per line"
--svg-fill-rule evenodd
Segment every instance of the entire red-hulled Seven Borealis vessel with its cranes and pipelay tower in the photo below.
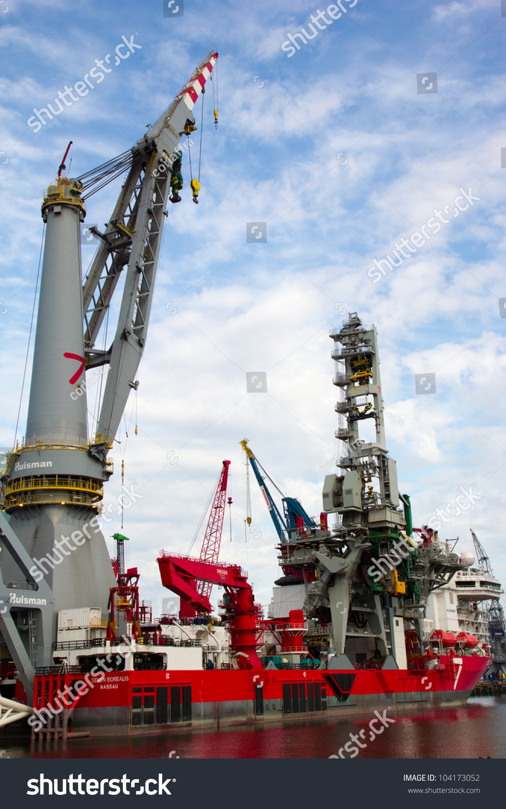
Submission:
M 141 625 L 137 569 L 124 571 L 118 560 L 115 578 L 99 529 L 108 450 L 137 389 L 167 201 L 180 200 L 179 139 L 195 129 L 192 107 L 216 59 L 205 57 L 132 150 L 80 178 L 61 176 L 62 165 L 44 195 L 27 430 L 2 478 L 0 726 L 27 721 L 33 735 L 64 738 L 135 735 L 456 705 L 490 664 L 487 650 L 466 638 L 452 646 L 433 637 L 424 648 L 428 595 L 465 565 L 431 529 L 412 526 L 386 449 L 376 329 L 356 313 L 331 332 L 336 436 L 345 451 L 325 479 L 322 515 L 310 518 L 286 498 L 283 518 L 264 494 L 280 540 L 278 584 L 293 588 L 297 607 L 263 618 L 245 571 L 217 560 L 228 462 L 200 559 L 158 556 L 162 583 L 187 612 L 154 622 L 145 612 Z M 82 286 L 86 196 L 125 172 L 106 230 L 95 231 L 100 246 Z M 195 201 L 198 182 L 191 186 Z M 99 349 L 121 273 L 116 335 Z M 110 371 L 89 437 L 84 372 L 102 365 Z M 358 427 L 369 418 L 376 438 L 365 443 Z M 214 584 L 224 590 L 217 619 Z M 7 697 L 9 674 L 15 691 Z

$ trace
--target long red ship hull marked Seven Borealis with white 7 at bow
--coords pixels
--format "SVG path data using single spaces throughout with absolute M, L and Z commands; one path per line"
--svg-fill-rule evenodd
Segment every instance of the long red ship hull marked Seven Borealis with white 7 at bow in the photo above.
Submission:
M 72 732 L 151 735 L 462 705 L 490 659 L 457 660 L 441 657 L 432 671 L 118 671 L 88 677 L 92 687 L 75 705 Z M 53 693 L 52 677 L 37 680 L 36 693 Z M 67 684 L 76 680 L 65 675 Z

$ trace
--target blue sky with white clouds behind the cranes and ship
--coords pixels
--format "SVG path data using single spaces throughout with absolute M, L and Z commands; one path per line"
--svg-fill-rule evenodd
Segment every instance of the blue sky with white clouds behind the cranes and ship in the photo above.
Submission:
M 210 85 L 205 95 L 200 203 L 192 205 L 185 155 L 140 384 L 104 498 L 116 502 L 124 460 L 125 483 L 139 495 L 124 511 L 127 562 L 141 570 L 141 598 L 155 614 L 168 595 L 158 551 L 188 552 L 224 459 L 233 503 L 221 560 L 242 565 L 255 598 L 270 602 L 276 534 L 254 480 L 245 533 L 239 441 L 248 438 L 280 488 L 319 514 L 339 451 L 329 330 L 349 311 L 377 328 L 386 443 L 415 525 L 471 489 L 474 504 L 440 537 L 472 550 L 473 528 L 506 580 L 503 6 L 504 16 L 501 0 L 341 0 L 339 17 L 338 6 L 306 0 L 0 4 L 1 447 L 12 446 L 18 413 L 18 438 L 26 425 L 40 204 L 68 142 L 69 176 L 124 152 L 202 57 L 219 54 L 217 128 Z M 302 28 L 317 33 L 294 36 Z M 116 59 L 122 37 L 140 47 Z M 37 128 L 34 109 L 54 106 L 57 91 L 107 54 L 103 80 Z M 120 183 L 89 199 L 86 222 L 110 218 Z M 267 241 L 247 242 L 251 222 L 264 223 Z M 385 269 L 394 243 L 423 226 L 424 244 L 410 243 L 409 257 Z M 93 254 L 82 248 L 83 272 Z M 267 392 L 247 392 L 252 371 L 266 373 Z M 415 375 L 428 374 L 436 392 L 418 394 Z M 119 529 L 115 517 L 110 533 Z

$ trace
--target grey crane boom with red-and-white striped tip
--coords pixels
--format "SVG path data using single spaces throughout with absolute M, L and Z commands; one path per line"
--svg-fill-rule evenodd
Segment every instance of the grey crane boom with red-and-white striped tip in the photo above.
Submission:
M 137 390 L 136 375 L 150 320 L 164 218 L 168 215 L 171 166 L 178 158 L 180 138 L 195 129 L 192 108 L 216 60 L 217 53 L 210 51 L 170 107 L 134 144 L 131 156 L 125 153 L 127 157 L 120 155 L 116 163 L 108 164 L 108 170 L 116 172 L 116 176 L 122 167 L 129 168 L 129 173 L 105 231 L 93 229 L 101 244 L 82 290 L 86 368 L 110 365 L 97 437 L 91 447 L 101 460 L 120 426 L 129 392 Z M 107 350 L 96 349 L 96 338 L 125 267 L 116 335 Z

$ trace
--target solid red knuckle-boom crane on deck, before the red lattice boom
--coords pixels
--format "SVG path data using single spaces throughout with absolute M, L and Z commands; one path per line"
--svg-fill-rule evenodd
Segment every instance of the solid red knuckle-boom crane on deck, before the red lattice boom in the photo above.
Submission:
M 256 647 L 261 645 L 257 643 L 260 605 L 255 604 L 247 574 L 238 565 L 217 565 L 166 551 L 160 551 L 157 561 L 163 587 L 179 595 L 196 612 L 212 610 L 209 596 L 200 592 L 200 582 L 223 587 L 225 595 L 220 606 L 227 613 L 230 646 L 238 655 L 238 667 L 261 668 L 256 654 Z

